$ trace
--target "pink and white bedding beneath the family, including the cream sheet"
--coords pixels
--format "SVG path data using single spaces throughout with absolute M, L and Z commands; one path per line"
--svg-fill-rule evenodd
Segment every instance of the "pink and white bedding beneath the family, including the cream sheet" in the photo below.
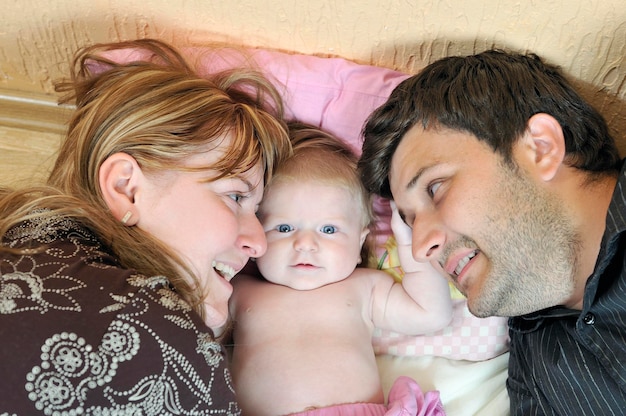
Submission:
M 361 128 L 369 113 L 409 76 L 341 58 L 270 50 L 242 53 L 236 49 L 193 47 L 184 52 L 203 73 L 244 63 L 258 67 L 282 91 L 289 118 L 320 126 L 345 140 L 357 153 Z M 114 58 L 130 60 L 139 54 L 129 50 Z M 27 145 L 26 140 L 22 143 Z M 5 183 L 2 174 L 0 171 L 0 183 Z M 375 211 L 379 266 L 391 278 L 401 279 L 389 227 L 388 203 L 376 200 Z M 447 328 L 419 337 L 375 332 L 372 342 L 385 392 L 398 376 L 406 375 L 414 378 L 424 391 L 438 390 L 451 416 L 508 415 L 506 320 L 472 316 L 463 296 L 453 287 L 450 290 L 454 318 Z

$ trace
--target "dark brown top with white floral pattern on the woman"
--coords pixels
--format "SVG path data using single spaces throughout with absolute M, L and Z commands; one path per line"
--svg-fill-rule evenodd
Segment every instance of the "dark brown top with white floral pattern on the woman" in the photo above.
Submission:
M 223 347 L 167 278 L 71 220 L 3 242 L 46 248 L 0 255 L 0 414 L 240 414 Z

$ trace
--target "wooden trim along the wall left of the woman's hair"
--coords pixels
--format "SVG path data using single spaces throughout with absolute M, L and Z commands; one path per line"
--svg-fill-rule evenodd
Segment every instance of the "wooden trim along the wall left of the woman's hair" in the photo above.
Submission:
M 73 107 L 49 95 L 0 89 L 0 125 L 63 134 Z

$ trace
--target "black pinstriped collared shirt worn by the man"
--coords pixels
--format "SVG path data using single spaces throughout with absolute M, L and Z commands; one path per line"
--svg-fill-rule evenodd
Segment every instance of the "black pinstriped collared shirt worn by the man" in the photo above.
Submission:
M 582 311 L 509 320 L 513 415 L 626 414 L 626 171 L 611 200 Z

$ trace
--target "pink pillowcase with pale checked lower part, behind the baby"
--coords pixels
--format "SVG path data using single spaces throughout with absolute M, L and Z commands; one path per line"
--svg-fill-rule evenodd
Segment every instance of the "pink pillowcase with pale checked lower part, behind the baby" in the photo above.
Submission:
M 391 69 L 360 65 L 341 58 L 321 58 L 270 50 L 237 49 L 215 51 L 187 48 L 198 70 L 208 74 L 250 62 L 263 71 L 283 94 L 287 117 L 310 123 L 346 141 L 361 153 L 361 130 L 369 114 L 382 105 L 391 91 L 409 75 Z M 139 59 L 142 54 L 129 50 L 110 56 L 118 61 Z M 378 249 L 383 269 L 395 273 L 393 236 L 387 201 L 378 199 Z M 391 242 L 391 244 L 390 244 Z M 506 318 L 477 318 L 469 313 L 465 299 L 451 287 L 454 317 L 449 327 L 437 333 L 406 336 L 376 330 L 373 337 L 379 354 L 401 356 L 435 355 L 458 360 L 481 361 L 508 350 Z

